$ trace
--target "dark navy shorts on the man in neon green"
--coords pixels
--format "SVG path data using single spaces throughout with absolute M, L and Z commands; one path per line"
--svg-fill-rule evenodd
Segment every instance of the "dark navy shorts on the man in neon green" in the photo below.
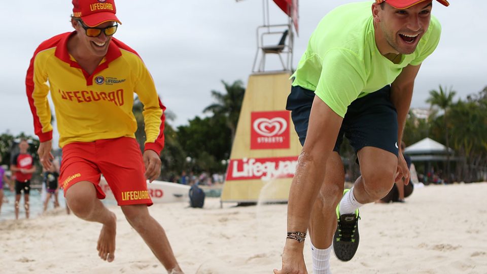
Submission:
M 333 151 L 340 152 L 343 135 L 357 153 L 363 147 L 375 147 L 397 156 L 397 111 L 390 99 L 391 86 L 387 85 L 358 98 L 346 110 Z M 286 109 L 291 111 L 299 142 L 304 145 L 309 114 L 315 92 L 293 86 Z

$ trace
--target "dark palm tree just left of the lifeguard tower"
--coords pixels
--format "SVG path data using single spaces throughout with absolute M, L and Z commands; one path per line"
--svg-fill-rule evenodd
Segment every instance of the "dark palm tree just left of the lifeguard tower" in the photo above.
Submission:
M 231 85 L 222 80 L 222 84 L 225 86 L 226 93 L 212 90 L 212 97 L 216 99 L 216 102 L 206 107 L 203 113 L 213 112 L 215 115 L 225 117 L 225 123 L 231 132 L 231 144 L 233 144 L 245 88 L 240 80 L 234 81 Z

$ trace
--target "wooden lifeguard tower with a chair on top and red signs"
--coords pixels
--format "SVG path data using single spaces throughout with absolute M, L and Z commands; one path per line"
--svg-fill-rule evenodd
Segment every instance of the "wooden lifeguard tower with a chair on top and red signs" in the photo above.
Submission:
M 264 24 L 257 27 L 257 52 L 243 97 L 222 202 L 287 201 L 301 151 L 291 113 L 285 109 L 291 89 L 298 3 L 273 0 L 288 15 L 288 23 L 270 25 L 268 2 L 263 0 Z M 270 58 L 277 68 L 267 68 Z

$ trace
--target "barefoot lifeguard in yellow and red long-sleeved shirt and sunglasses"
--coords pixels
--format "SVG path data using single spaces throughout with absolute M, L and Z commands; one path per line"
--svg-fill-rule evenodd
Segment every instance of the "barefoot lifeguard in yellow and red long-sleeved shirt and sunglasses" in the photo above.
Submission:
M 97 250 L 113 261 L 116 218 L 100 201 L 100 174 L 110 185 L 130 225 L 171 273 L 182 273 L 164 230 L 147 210 L 146 179 L 160 175 L 164 110 L 154 81 L 138 54 L 113 38 L 120 20 L 113 0 L 73 0 L 73 32 L 44 41 L 27 71 L 26 88 L 39 156 L 51 165 L 51 94 L 63 159 L 59 182 L 69 208 L 103 224 Z M 146 143 L 141 153 L 134 132 L 133 96 L 144 104 Z M 127 193 L 130 199 L 123 199 Z

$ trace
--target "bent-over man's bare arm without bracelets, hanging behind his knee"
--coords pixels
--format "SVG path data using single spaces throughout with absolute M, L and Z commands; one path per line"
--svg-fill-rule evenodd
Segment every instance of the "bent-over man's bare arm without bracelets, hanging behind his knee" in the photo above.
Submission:
M 403 68 L 401 74 L 391 84 L 391 101 L 397 110 L 397 144 L 400 147 L 402 141 L 402 134 L 404 131 L 404 125 L 406 123 L 407 113 L 409 106 L 411 105 L 412 91 L 414 89 L 414 79 L 420 70 L 420 65 L 408 65 Z M 396 176 L 396 182 L 405 178 L 404 183 L 409 183 L 409 169 L 407 168 L 406 161 L 402 155 L 401 149 L 398 154 L 398 170 Z

